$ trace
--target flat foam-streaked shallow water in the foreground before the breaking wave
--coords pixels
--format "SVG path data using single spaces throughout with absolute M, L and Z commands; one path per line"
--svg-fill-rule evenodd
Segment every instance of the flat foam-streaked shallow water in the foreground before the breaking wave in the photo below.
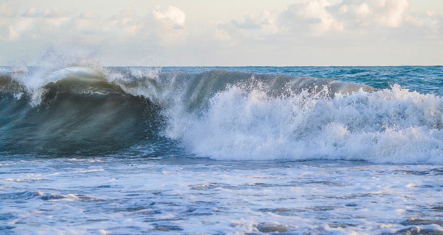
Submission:
M 108 157 L 0 171 L 5 234 L 443 232 L 441 165 Z

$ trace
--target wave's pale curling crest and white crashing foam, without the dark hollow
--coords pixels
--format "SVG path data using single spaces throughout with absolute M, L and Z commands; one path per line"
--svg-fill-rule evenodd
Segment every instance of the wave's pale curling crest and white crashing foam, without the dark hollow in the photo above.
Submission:
M 443 98 L 399 85 L 368 91 L 325 79 L 100 66 L 38 70 L 16 80 L 36 106 L 43 85 L 72 74 L 102 74 L 126 93 L 149 98 L 163 109 L 162 134 L 198 156 L 443 163 Z

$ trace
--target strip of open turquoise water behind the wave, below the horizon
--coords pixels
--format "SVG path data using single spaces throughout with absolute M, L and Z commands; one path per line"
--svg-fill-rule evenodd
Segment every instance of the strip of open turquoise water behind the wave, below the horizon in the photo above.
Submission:
M 443 66 L 376 66 L 376 67 L 163 67 L 162 71 L 189 73 L 216 69 L 248 73 L 288 74 L 315 78 L 332 78 L 383 89 L 399 84 L 420 93 L 442 95 Z

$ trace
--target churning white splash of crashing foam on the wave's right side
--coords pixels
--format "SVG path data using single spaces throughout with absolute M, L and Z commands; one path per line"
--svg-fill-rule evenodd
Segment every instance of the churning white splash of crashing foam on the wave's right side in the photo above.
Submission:
M 353 159 L 443 162 L 443 100 L 394 85 L 376 92 L 272 97 L 232 86 L 203 112 L 165 111 L 166 135 L 218 160 Z

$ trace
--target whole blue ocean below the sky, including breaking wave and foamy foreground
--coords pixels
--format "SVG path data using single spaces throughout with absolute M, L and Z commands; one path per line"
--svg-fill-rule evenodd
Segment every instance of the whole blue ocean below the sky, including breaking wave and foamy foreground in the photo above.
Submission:
M 443 67 L 0 67 L 0 233 L 442 234 Z

